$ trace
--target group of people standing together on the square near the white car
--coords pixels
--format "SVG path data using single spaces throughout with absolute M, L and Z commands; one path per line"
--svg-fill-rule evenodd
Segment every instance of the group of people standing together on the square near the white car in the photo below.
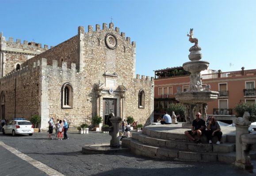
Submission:
M 53 139 L 52 138 L 52 134 L 53 134 L 53 126 L 54 126 L 54 117 L 50 118 L 50 121 L 48 121 L 49 123 L 49 139 Z M 63 137 L 63 133 L 64 133 L 64 139 L 69 139 L 68 135 L 67 135 L 67 131 L 69 129 L 69 125 L 68 122 L 66 121 L 66 119 L 59 120 L 57 119 L 57 121 L 55 122 L 55 139 L 59 139 L 62 140 Z

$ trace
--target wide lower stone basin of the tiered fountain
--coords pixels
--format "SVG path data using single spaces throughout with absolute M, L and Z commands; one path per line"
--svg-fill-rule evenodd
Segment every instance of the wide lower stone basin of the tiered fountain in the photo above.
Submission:
M 177 92 L 175 99 L 181 103 L 208 103 L 218 98 L 216 91 Z

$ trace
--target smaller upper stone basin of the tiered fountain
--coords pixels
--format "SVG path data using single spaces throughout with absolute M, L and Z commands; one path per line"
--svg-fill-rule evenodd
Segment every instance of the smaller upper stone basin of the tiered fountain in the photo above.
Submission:
M 209 66 L 209 62 L 207 61 L 191 61 L 191 62 L 185 62 L 183 63 L 183 69 L 190 72 L 201 72 L 203 70 L 206 70 Z

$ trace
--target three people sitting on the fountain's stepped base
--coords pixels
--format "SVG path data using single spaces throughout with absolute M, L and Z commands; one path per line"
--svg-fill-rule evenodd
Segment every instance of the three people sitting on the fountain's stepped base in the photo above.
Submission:
M 191 130 L 185 131 L 185 135 L 196 143 L 202 143 L 201 137 L 203 134 L 206 134 L 210 144 L 212 143 L 212 137 L 217 136 L 218 141 L 216 144 L 220 144 L 222 138 L 221 126 L 219 122 L 215 120 L 214 116 L 208 117 L 207 125 L 206 122 L 201 118 L 201 114 L 199 112 L 195 114 L 195 117 L 195 120 L 192 122 Z M 167 112 L 164 112 L 164 116 L 160 123 L 162 125 L 172 124 L 171 116 Z M 198 136 L 197 140 L 195 139 L 195 136 Z

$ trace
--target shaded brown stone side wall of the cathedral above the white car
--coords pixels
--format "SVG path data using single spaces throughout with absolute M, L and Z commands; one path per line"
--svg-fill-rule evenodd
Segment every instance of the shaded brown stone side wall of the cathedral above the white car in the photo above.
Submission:
M 0 79 L 0 92 L 5 94 L 5 118 L 30 119 L 39 109 L 39 67 L 24 68 Z M 15 91 L 16 90 L 16 91 Z M 16 115 L 15 115 L 16 114 Z

